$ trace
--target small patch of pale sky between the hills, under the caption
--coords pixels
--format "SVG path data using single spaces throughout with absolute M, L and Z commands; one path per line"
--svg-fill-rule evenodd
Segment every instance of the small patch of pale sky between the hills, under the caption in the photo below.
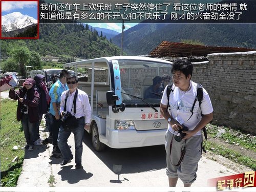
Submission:
M 100 27 L 100 28 L 105 28 L 105 29 L 111 29 L 114 31 L 117 31 L 118 33 L 122 32 L 122 23 L 89 23 L 88 25 L 92 27 Z M 124 23 L 125 30 L 137 25 L 137 23 Z

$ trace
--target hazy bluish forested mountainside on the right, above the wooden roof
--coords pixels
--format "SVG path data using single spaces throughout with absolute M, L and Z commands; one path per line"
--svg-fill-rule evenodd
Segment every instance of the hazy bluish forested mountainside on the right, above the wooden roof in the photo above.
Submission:
M 129 55 L 149 54 L 163 40 L 200 41 L 206 46 L 256 48 L 256 24 L 138 24 L 124 32 Z M 121 35 L 113 38 L 120 46 Z

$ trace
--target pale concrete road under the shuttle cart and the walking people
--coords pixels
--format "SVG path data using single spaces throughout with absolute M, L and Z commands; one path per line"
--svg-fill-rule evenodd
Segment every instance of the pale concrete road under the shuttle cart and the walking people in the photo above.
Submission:
M 41 137 L 46 135 L 46 132 L 41 132 Z M 75 154 L 73 134 L 68 143 Z M 51 144 L 36 146 L 34 151 L 25 152 L 18 187 L 47 187 L 51 175 L 54 176 L 53 185 L 56 187 L 168 187 L 163 145 L 126 149 L 106 147 L 103 152 L 95 152 L 90 135 L 86 132 L 83 140 L 83 169 L 75 169 L 74 160 L 60 166 L 62 158 L 50 157 L 50 152 Z M 119 175 L 113 170 L 115 165 L 122 165 Z M 199 162 L 198 179 L 193 186 L 207 186 L 209 178 L 233 174 L 236 173 L 203 157 Z M 178 181 L 177 186 L 183 186 L 181 181 Z

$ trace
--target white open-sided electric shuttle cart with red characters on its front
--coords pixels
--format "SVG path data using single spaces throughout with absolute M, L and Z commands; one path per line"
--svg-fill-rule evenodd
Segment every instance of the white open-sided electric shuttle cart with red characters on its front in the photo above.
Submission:
M 155 76 L 170 74 L 172 62 L 139 56 L 101 57 L 67 63 L 87 68 L 88 82 L 78 82 L 92 108 L 92 144 L 96 151 L 164 144 L 167 121 L 160 114 L 161 94 L 144 98 Z

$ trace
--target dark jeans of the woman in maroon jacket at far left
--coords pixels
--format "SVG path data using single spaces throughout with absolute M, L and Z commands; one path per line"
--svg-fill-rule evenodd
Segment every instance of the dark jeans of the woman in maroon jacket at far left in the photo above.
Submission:
M 28 114 L 23 114 L 22 115 L 22 127 L 23 127 L 23 131 L 24 131 L 24 135 L 26 138 L 26 142 L 29 145 L 34 146 L 34 142 L 35 142 L 35 137 L 36 137 L 36 129 L 35 126 L 38 122 L 34 122 L 31 123 L 29 121 L 29 116 Z

